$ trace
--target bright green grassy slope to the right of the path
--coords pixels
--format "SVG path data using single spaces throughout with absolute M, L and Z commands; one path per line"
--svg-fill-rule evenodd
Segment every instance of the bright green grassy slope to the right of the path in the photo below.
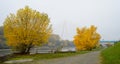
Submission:
M 120 64 L 120 42 L 101 52 L 102 64 Z

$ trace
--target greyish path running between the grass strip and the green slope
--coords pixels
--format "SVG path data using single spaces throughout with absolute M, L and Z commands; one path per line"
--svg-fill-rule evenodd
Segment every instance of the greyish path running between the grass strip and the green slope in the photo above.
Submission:
M 40 60 L 27 64 L 100 64 L 100 51 L 90 52 L 72 57 Z

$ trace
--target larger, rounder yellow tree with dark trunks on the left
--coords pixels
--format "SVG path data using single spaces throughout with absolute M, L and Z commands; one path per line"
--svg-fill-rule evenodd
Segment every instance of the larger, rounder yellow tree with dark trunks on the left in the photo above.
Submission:
M 10 14 L 4 21 L 7 44 L 20 53 L 29 53 L 31 47 L 46 43 L 51 32 L 48 15 L 28 6 Z

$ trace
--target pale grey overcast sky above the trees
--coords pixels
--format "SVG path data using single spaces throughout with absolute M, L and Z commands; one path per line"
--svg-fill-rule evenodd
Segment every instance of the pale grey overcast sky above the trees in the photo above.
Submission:
M 120 0 L 1 0 L 0 25 L 28 5 L 49 15 L 53 33 L 73 40 L 76 27 L 95 25 L 104 40 L 120 39 Z

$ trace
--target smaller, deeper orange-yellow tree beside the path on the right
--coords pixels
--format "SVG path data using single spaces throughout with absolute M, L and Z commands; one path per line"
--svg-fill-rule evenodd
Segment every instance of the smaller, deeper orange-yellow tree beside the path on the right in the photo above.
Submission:
M 77 28 L 77 35 L 74 36 L 74 44 L 77 50 L 92 50 L 99 44 L 100 34 L 96 32 L 97 27 Z

